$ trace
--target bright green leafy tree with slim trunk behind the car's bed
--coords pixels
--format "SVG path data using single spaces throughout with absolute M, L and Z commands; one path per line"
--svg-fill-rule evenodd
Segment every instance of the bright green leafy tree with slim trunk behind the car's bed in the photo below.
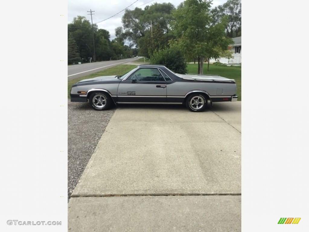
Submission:
M 214 24 L 210 14 L 211 1 L 186 0 L 173 13 L 171 22 L 176 39 L 172 46 L 180 49 L 186 59 L 198 57 L 198 73 L 203 73 L 204 57 L 214 57 L 215 51 L 226 50 L 232 40 L 225 37 L 224 18 Z

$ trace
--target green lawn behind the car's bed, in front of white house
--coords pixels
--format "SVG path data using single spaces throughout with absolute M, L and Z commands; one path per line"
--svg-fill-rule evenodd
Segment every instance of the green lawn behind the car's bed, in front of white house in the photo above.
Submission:
M 188 73 L 197 74 L 197 64 L 188 64 Z M 236 81 L 237 101 L 241 101 L 241 67 L 240 66 L 215 66 L 210 64 L 209 71 L 207 71 L 207 63 L 204 63 L 203 74 L 220 75 L 222 77 L 234 79 Z

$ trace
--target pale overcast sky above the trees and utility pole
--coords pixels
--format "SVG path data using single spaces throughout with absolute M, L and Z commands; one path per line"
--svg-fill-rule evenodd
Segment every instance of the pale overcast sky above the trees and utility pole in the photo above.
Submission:
M 222 5 L 227 0 L 214 0 L 212 3 L 212 7 Z M 135 2 L 135 3 L 134 3 Z M 93 23 L 98 25 L 98 28 L 102 28 L 108 30 L 111 35 L 111 40 L 115 38 L 115 28 L 121 27 L 121 17 L 124 15 L 124 10 L 128 7 L 129 10 L 133 10 L 135 7 L 139 7 L 144 9 L 147 5 L 152 5 L 155 2 L 163 3 L 163 2 L 171 2 L 175 7 L 177 7 L 184 0 L 68 0 L 68 23 L 73 21 L 74 17 L 78 15 L 85 16 L 91 22 L 90 12 L 87 11 L 95 11 L 92 15 Z M 132 6 L 130 6 L 133 3 Z M 112 15 L 117 14 L 122 11 L 120 14 L 111 17 Z M 104 19 L 107 19 L 103 21 Z M 101 22 L 103 21 L 103 22 Z

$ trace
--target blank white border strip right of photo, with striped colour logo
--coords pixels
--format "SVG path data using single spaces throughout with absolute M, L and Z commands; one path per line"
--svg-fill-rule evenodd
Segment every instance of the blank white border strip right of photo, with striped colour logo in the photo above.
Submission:
M 242 3 L 242 231 L 309 228 L 307 5 Z

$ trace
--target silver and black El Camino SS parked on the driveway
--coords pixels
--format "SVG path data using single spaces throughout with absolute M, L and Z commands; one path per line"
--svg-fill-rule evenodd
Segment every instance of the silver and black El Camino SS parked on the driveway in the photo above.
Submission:
M 70 92 L 72 102 L 87 102 L 95 110 L 117 104 L 185 104 L 201 112 L 207 101 L 237 101 L 236 83 L 218 75 L 183 75 L 163 65 L 140 65 L 122 76 L 81 80 Z

